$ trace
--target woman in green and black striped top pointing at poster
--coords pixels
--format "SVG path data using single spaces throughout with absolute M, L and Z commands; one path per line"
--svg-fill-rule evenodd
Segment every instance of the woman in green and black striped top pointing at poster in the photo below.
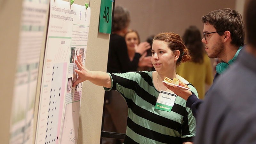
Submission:
M 156 71 L 137 71 L 110 74 L 86 69 L 77 56 L 75 60 L 79 75 L 73 85 L 89 80 L 103 86 L 106 91 L 116 90 L 128 105 L 127 130 L 124 144 L 129 143 L 172 143 L 192 144 L 196 135 L 196 119 L 186 101 L 175 96 L 170 111 L 157 108 L 159 95 L 172 93 L 162 83 L 164 76 L 178 78 L 191 91 L 196 89 L 184 78 L 176 74 L 176 67 L 191 57 L 179 35 L 160 33 L 155 36 L 152 46 L 152 64 Z

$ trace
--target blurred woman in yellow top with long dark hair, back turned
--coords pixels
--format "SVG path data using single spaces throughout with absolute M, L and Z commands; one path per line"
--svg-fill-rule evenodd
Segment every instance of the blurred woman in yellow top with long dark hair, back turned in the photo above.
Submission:
M 199 99 L 204 99 L 205 87 L 212 85 L 213 74 L 210 58 L 204 51 L 201 33 L 196 26 L 190 26 L 183 35 L 192 60 L 180 64 L 177 74 L 195 86 Z M 207 84 L 207 85 L 206 85 Z

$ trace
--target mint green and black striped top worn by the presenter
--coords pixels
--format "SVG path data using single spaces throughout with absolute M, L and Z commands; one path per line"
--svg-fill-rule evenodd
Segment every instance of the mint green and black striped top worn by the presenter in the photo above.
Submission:
M 152 72 L 108 74 L 112 85 L 104 89 L 118 91 L 128 105 L 124 144 L 182 144 L 193 141 L 196 119 L 184 99 L 176 97 L 171 112 L 155 109 L 159 92 L 153 85 Z M 188 84 L 192 93 L 197 95 L 193 85 L 180 76 L 177 78 Z

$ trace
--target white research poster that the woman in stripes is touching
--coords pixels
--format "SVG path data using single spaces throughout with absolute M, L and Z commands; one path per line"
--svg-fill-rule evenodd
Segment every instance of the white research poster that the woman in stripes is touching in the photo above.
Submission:
M 91 10 L 61 0 L 50 1 L 43 76 L 36 129 L 36 144 L 77 142 L 82 84 L 76 56 L 85 55 Z

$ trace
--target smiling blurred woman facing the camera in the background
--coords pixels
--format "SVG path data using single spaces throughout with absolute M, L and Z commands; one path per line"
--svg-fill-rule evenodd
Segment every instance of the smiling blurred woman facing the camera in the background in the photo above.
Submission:
M 124 38 L 127 45 L 128 56 L 130 58 L 130 61 L 132 61 L 135 56 L 135 49 L 140 44 L 140 36 L 136 30 L 130 29 L 125 34 Z M 150 51 L 150 54 L 151 54 L 151 51 Z M 148 55 L 147 52 L 144 52 L 142 54 L 142 56 L 139 59 L 139 64 L 138 64 L 139 68 L 137 70 L 144 71 L 144 70 L 148 70 L 148 68 L 153 67 L 151 62 L 151 56 L 147 56 L 147 55 Z

